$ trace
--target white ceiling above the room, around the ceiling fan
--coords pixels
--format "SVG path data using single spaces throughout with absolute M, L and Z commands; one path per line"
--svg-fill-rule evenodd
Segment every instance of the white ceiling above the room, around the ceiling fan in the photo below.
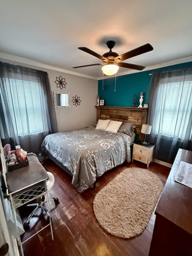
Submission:
M 192 56 L 191 11 L 191 0 L 0 0 L 0 57 L 99 78 L 101 66 L 73 68 L 102 62 L 78 47 L 103 55 L 113 40 L 119 55 L 151 44 L 153 51 L 123 61 L 147 68 Z

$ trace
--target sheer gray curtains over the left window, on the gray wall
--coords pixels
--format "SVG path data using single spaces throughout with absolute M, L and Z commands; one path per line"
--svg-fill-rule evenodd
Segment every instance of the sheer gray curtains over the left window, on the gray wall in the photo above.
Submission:
M 47 72 L 0 62 L 0 97 L 3 146 L 37 154 L 44 137 L 58 132 Z

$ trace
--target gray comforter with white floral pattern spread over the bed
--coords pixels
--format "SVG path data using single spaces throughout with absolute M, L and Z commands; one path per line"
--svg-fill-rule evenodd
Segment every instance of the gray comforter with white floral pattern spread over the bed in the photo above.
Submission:
M 87 127 L 47 135 L 41 148 L 71 171 L 72 184 L 82 192 L 107 170 L 130 162 L 133 142 L 134 136 Z

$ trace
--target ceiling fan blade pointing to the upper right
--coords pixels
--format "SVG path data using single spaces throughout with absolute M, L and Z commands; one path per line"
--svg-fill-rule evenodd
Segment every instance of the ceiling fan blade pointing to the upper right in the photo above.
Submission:
M 122 55 L 117 56 L 115 58 L 115 60 L 120 58 L 121 61 L 122 61 L 122 60 L 125 60 L 125 59 L 132 58 L 134 56 L 140 55 L 142 53 L 150 52 L 152 50 L 153 50 L 153 47 L 151 46 L 151 44 L 144 44 L 144 45 L 142 45 L 142 46 L 140 46 L 140 47 L 138 47 L 138 48 L 136 48 L 134 50 L 131 50 L 131 51 L 127 52 L 127 53 L 123 53 Z

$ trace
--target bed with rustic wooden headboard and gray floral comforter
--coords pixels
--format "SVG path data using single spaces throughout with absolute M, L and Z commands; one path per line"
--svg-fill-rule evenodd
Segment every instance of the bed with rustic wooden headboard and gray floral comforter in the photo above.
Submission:
M 73 178 L 72 184 L 79 192 L 85 191 L 98 177 L 124 161 L 131 161 L 131 145 L 135 134 L 139 135 L 146 122 L 147 109 L 130 107 L 97 108 L 99 119 L 116 123 L 133 124 L 133 132 L 112 132 L 89 126 L 78 130 L 58 132 L 45 137 L 41 148 L 62 169 Z M 109 121 L 110 122 L 110 121 Z M 99 124 L 99 123 L 98 123 Z M 122 125 L 120 126 L 121 130 Z M 100 128 L 100 127 L 98 127 Z

